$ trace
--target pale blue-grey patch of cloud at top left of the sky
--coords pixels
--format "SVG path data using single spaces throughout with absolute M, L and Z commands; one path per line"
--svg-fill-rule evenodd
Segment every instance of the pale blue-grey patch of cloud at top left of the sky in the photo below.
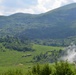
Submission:
M 3 0 L 2 5 L 5 7 L 19 8 L 19 7 L 29 7 L 31 5 L 37 4 L 36 0 Z

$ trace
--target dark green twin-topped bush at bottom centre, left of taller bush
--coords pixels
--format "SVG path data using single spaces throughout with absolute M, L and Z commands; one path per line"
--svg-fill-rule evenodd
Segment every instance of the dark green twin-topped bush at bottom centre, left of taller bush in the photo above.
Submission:
M 51 72 L 51 68 L 48 64 L 45 64 L 43 67 L 37 64 L 32 68 L 32 75 L 50 75 Z

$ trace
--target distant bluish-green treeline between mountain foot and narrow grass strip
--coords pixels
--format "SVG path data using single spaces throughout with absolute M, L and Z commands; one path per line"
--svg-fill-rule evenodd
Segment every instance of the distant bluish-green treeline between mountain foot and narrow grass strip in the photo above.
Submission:
M 64 39 L 35 39 L 35 40 L 33 40 L 33 42 L 35 44 L 40 44 L 40 45 L 67 47 L 72 42 L 74 44 L 76 44 L 76 36 L 68 37 L 68 38 L 64 38 Z

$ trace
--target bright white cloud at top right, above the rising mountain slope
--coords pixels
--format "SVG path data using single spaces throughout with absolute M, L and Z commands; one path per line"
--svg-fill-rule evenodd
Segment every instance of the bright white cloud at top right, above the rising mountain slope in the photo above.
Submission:
M 41 10 L 43 10 L 43 12 L 46 12 L 75 1 L 76 0 L 38 0 L 38 7 L 42 8 Z

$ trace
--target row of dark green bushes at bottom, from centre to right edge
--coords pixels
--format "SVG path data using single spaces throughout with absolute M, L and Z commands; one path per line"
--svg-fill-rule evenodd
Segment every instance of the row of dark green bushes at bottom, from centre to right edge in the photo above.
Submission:
M 75 67 L 68 62 L 56 62 L 54 65 L 45 64 L 43 67 L 36 65 L 28 75 L 76 75 Z

